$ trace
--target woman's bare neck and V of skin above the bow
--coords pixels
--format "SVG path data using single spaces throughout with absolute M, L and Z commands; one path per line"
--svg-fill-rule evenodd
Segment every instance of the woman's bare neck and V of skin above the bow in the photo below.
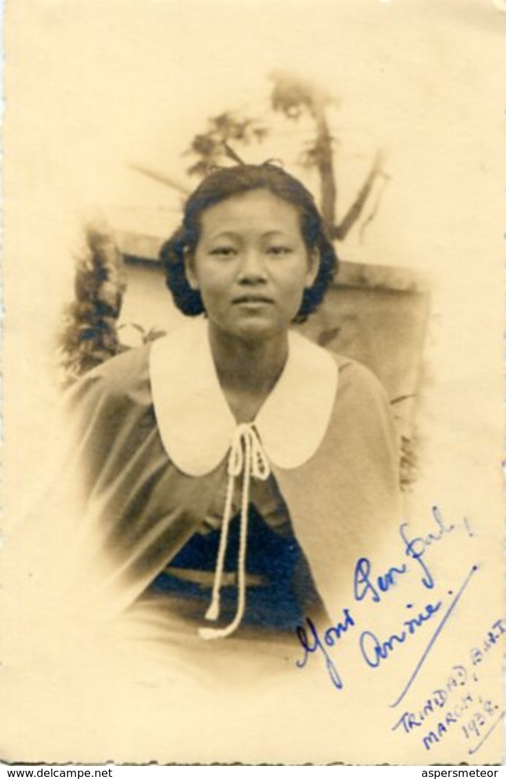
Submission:
M 235 419 L 252 421 L 278 381 L 288 358 L 288 333 L 241 340 L 210 325 L 218 379 Z

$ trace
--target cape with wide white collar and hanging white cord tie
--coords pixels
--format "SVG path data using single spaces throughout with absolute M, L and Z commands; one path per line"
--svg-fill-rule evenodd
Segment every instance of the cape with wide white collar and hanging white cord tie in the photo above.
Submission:
M 206 517 L 223 517 L 225 527 L 239 509 L 246 543 L 253 502 L 274 525 L 288 512 L 332 614 L 350 590 L 356 559 L 402 516 L 383 388 L 363 366 L 298 333 L 290 333 L 285 368 L 251 425 L 237 425 L 228 408 L 204 319 L 85 375 L 69 394 L 69 411 L 83 514 L 107 559 L 101 597 L 110 593 L 113 611 L 146 590 Z M 221 537 L 223 557 L 223 530 Z M 240 555 L 246 601 L 247 545 Z M 211 612 L 219 612 L 222 562 Z

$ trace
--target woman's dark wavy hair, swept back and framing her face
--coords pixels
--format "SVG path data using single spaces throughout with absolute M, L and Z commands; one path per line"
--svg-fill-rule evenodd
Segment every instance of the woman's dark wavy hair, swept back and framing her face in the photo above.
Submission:
M 189 286 L 185 272 L 185 255 L 194 252 L 199 242 L 202 213 L 223 200 L 255 189 L 267 189 L 294 206 L 299 212 L 306 248 L 308 251 L 317 249 L 320 254 L 317 277 L 312 287 L 304 291 L 294 321 L 303 322 L 324 299 L 327 287 L 338 272 L 338 257 L 313 196 L 301 182 L 277 164 L 239 164 L 217 168 L 203 179 L 186 201 L 182 225 L 161 247 L 160 259 L 167 286 L 175 305 L 183 314 L 196 316 L 205 311 L 200 292 Z

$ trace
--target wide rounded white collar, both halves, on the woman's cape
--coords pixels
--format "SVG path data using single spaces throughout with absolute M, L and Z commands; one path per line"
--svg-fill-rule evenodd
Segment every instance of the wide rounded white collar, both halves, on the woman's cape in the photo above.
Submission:
M 230 448 L 237 422 L 218 381 L 205 319 L 154 342 L 150 382 L 172 462 L 189 476 L 213 471 Z M 290 332 L 285 368 L 254 421 L 271 463 L 295 468 L 310 460 L 327 431 L 337 386 L 331 355 Z

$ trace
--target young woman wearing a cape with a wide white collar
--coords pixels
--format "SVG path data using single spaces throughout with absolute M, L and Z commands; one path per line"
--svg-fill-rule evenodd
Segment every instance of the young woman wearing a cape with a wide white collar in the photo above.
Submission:
M 161 261 L 188 325 L 71 394 L 97 600 L 155 604 L 200 643 L 293 640 L 307 615 L 340 613 L 356 559 L 399 519 L 384 390 L 292 330 L 337 259 L 280 167 L 211 172 Z

